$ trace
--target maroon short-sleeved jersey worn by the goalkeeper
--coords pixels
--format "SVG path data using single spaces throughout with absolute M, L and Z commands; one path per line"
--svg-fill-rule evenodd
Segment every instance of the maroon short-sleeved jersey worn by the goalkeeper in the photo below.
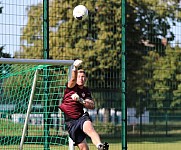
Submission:
M 80 98 L 91 99 L 91 92 L 87 87 L 80 89 L 76 84 L 73 88 L 66 87 L 62 104 L 59 108 L 71 119 L 77 119 L 84 113 L 83 105 L 78 101 L 72 100 L 71 95 L 77 93 Z

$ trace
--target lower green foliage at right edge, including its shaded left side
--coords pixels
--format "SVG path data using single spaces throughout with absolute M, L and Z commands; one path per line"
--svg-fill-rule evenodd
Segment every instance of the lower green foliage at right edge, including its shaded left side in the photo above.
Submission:
M 180 106 L 181 48 L 167 47 L 165 52 L 163 57 L 154 51 L 144 57 L 146 63 L 143 65 L 142 74 L 145 79 L 138 89 L 139 95 L 146 97 L 142 99 L 143 108 L 146 104 L 149 104 L 150 108 L 163 109 L 176 109 Z

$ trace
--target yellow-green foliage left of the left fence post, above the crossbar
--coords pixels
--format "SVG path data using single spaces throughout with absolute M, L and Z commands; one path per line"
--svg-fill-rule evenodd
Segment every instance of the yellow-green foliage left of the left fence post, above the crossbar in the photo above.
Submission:
M 24 58 L 43 58 L 43 9 L 41 4 L 27 8 L 27 26 L 21 29 L 21 55 Z M 35 53 L 36 52 L 36 53 Z M 16 53 L 18 55 L 18 52 Z M 15 57 L 17 57 L 15 55 Z

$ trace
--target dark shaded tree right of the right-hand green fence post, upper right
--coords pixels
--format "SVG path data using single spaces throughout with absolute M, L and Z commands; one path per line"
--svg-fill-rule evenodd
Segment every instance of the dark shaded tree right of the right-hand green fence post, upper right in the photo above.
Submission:
M 140 99 L 139 87 L 143 87 L 147 77 L 142 72 L 145 63 L 148 65 L 144 57 L 148 56 L 150 51 L 156 51 L 159 56 L 165 55 L 166 47 L 162 39 L 166 38 L 168 42 L 174 40 L 170 28 L 176 21 L 180 21 L 181 14 L 178 13 L 179 2 L 176 0 L 130 0 L 127 11 L 127 95 L 128 105 L 135 106 Z

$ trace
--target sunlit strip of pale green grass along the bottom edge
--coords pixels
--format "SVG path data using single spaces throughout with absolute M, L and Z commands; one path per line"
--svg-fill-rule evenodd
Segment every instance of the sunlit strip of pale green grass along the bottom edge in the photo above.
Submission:
M 121 143 L 119 143 L 119 139 L 105 139 L 110 143 L 110 150 L 121 150 Z M 133 139 L 131 139 L 133 140 Z M 158 142 L 140 142 L 140 138 L 136 138 L 135 140 L 139 140 L 139 142 L 129 142 L 128 141 L 128 150 L 179 150 L 181 148 L 181 138 L 175 138 L 173 141 L 170 138 L 170 142 L 168 138 L 160 138 Z M 149 138 L 149 140 L 154 140 L 154 138 Z M 95 146 L 89 143 L 90 150 L 97 150 Z M 18 145 L 1 145 L 0 149 L 2 150 L 18 150 Z M 35 144 L 24 144 L 23 150 L 43 150 L 43 145 L 35 145 Z M 51 150 L 68 150 L 68 146 L 50 146 Z M 78 150 L 78 148 L 75 148 Z

